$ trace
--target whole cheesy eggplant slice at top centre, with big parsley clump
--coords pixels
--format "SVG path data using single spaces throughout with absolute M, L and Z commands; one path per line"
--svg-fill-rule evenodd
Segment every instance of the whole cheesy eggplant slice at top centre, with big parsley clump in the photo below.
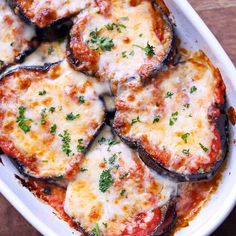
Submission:
M 99 1 L 82 12 L 70 32 L 67 56 L 78 71 L 112 80 L 150 78 L 172 58 L 173 27 L 154 1 Z

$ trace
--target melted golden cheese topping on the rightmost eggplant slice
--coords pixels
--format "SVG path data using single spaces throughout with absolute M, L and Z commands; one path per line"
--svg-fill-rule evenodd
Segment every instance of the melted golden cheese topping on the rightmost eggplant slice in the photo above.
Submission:
M 201 165 L 212 165 L 209 154 L 217 137 L 214 122 L 209 120 L 209 109 L 216 103 L 217 83 L 212 68 L 204 60 L 201 64 L 194 59 L 179 64 L 144 88 L 122 92 L 117 104 L 128 108 L 118 111 L 115 126 L 122 122 L 129 127 L 127 131 L 120 127 L 124 128 L 123 135 L 147 139 L 146 144 L 142 141 L 144 148 L 164 161 L 169 170 L 189 174 Z M 161 152 L 170 156 L 167 163 Z M 220 156 L 221 151 L 217 158 Z

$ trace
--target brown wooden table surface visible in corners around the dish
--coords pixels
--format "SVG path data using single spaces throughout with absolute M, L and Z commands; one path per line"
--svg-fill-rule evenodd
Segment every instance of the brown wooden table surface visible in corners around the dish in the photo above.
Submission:
M 236 65 L 236 0 L 189 0 L 189 2 L 216 35 Z M 1 195 L 0 225 L 0 236 L 40 235 Z M 222 235 L 236 235 L 236 208 L 213 233 L 213 236 Z

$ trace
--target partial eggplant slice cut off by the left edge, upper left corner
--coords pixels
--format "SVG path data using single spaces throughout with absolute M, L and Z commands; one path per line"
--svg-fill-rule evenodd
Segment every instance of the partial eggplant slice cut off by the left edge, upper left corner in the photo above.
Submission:
M 7 66 L 22 62 L 38 45 L 35 30 L 26 25 L 10 9 L 0 2 L 0 72 Z

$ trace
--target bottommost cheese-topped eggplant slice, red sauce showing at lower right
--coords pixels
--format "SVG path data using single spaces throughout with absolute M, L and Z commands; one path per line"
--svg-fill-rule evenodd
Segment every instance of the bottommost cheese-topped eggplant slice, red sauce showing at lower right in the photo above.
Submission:
M 80 167 L 64 210 L 87 234 L 161 235 L 173 225 L 176 184 L 145 166 L 108 126 Z

